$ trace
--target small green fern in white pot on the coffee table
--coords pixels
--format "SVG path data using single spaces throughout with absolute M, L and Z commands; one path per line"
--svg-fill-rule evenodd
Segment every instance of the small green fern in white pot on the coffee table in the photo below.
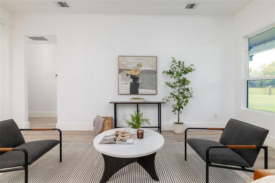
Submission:
M 141 128 L 142 125 L 149 124 L 150 125 L 150 119 L 147 118 L 143 118 L 143 113 L 140 112 L 140 110 L 138 112 L 134 112 L 133 114 L 130 114 L 131 117 L 131 121 L 129 120 L 125 120 L 125 123 L 131 127 L 130 128 L 130 133 L 131 134 L 137 134 L 137 130 L 139 128 Z

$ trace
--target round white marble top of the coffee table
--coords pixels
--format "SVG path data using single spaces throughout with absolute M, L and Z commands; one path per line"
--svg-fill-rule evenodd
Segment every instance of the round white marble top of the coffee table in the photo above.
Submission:
M 108 156 L 134 158 L 147 156 L 157 152 L 164 145 L 164 138 L 161 134 L 146 128 L 143 128 L 143 139 L 138 139 L 137 136 L 134 135 L 134 144 L 99 144 L 103 136 L 112 135 L 118 129 L 130 132 L 130 127 L 115 128 L 104 131 L 94 138 L 93 145 L 95 149 Z

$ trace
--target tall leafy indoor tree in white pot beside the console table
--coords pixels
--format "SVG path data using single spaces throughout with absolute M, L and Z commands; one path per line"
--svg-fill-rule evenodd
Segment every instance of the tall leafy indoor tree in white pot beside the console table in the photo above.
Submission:
M 165 85 L 172 89 L 172 92 L 169 96 L 163 98 L 164 101 L 168 102 L 170 100 L 175 101 L 172 104 L 172 112 L 178 115 L 178 121 L 173 122 L 173 130 L 175 134 L 183 134 L 184 123 L 179 120 L 179 114 L 182 113 L 183 108 L 189 102 L 189 99 L 193 98 L 192 88 L 188 88 L 190 81 L 185 77 L 186 74 L 195 71 L 194 65 L 185 66 L 184 61 L 176 61 L 172 57 L 171 66 L 169 70 L 164 70 L 162 74 L 168 74 L 170 79 L 173 79 L 172 82 L 165 82 Z

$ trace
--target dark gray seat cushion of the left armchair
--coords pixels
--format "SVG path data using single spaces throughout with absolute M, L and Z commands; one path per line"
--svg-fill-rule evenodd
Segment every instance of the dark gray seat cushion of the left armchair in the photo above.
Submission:
M 40 158 L 43 154 L 48 152 L 56 146 L 59 140 L 39 140 L 27 142 L 18 145 L 18 148 L 24 148 L 28 152 L 28 164 L 33 163 Z M 0 156 L 0 168 L 17 167 L 24 165 L 24 152 L 23 151 L 8 151 Z

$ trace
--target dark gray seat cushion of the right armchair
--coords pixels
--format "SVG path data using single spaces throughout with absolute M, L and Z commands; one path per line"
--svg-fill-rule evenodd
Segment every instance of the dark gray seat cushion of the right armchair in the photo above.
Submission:
M 211 145 L 223 145 L 219 142 L 212 140 L 205 140 L 199 138 L 189 138 L 186 142 L 197 152 L 197 154 L 206 161 L 206 149 Z M 241 167 L 251 167 L 249 163 L 244 160 L 240 155 L 231 149 L 210 149 L 209 162 L 221 163 L 226 165 L 235 165 Z

